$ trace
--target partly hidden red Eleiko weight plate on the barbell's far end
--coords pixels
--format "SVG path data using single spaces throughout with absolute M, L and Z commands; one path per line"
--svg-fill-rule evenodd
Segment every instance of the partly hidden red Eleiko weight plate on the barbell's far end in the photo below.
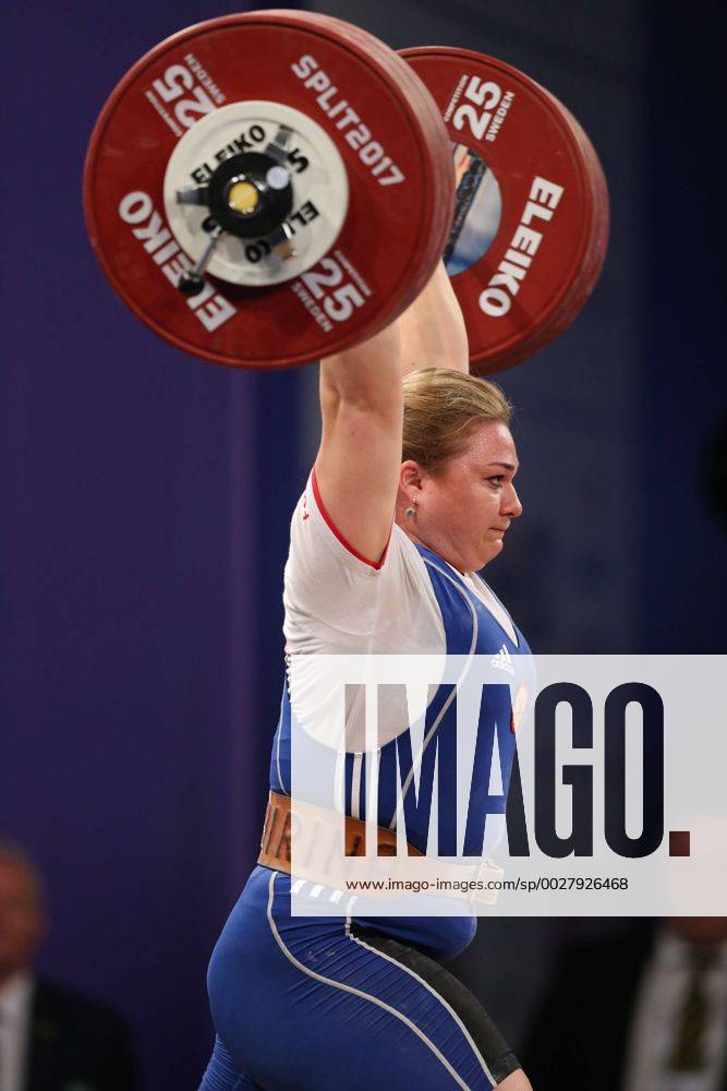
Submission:
M 572 116 L 517 69 L 448 47 L 401 56 L 459 145 L 445 257 L 473 370 L 500 371 L 555 337 L 593 290 L 608 236 L 603 171 Z

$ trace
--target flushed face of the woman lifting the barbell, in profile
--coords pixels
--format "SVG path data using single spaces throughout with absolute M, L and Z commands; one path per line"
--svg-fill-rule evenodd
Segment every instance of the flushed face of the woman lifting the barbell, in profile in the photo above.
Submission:
M 513 478 L 514 441 L 507 424 L 485 421 L 465 449 L 434 473 L 404 463 L 401 489 L 416 497 L 416 515 L 403 527 L 460 572 L 476 572 L 502 551 L 512 519 L 522 513 Z

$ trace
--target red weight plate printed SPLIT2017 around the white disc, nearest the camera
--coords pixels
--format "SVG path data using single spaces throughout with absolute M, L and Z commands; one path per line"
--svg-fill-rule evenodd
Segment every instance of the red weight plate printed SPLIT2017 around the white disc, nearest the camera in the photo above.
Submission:
M 233 367 L 305 363 L 371 337 L 426 284 L 451 224 L 449 140 L 412 75 L 365 32 L 303 12 L 225 16 L 161 43 L 112 93 L 86 158 L 86 223 L 116 291 L 167 340 Z M 348 215 L 305 283 L 208 276 L 186 299 L 175 287 L 186 259 L 166 233 L 167 163 L 201 117 L 252 99 L 305 113 L 334 141 Z

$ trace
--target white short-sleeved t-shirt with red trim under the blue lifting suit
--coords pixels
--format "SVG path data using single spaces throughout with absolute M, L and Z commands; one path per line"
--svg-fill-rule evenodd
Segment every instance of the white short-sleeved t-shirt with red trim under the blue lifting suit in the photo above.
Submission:
M 480 576 L 451 573 L 484 603 L 514 644 L 514 626 L 507 611 Z M 286 654 L 293 711 L 306 730 L 330 744 L 325 723 L 334 707 L 308 684 L 306 656 L 445 655 L 447 639 L 439 603 L 427 564 L 401 527 L 392 524 L 379 563 L 362 558 L 328 516 L 315 470 L 293 513 L 290 553 L 284 573 Z M 435 687 L 436 688 L 436 687 Z M 432 696 L 432 695 L 431 695 Z M 429 696 L 429 699 L 431 699 Z M 364 707 L 360 694 L 347 708 L 347 750 L 363 750 Z M 401 709 L 379 709 L 379 740 L 384 744 L 407 727 Z

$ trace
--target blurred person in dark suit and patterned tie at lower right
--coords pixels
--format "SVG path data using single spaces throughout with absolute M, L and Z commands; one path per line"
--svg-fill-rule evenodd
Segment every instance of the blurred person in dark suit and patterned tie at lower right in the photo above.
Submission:
M 535 1091 L 727 1091 L 727 919 L 571 944 L 522 1057 Z

